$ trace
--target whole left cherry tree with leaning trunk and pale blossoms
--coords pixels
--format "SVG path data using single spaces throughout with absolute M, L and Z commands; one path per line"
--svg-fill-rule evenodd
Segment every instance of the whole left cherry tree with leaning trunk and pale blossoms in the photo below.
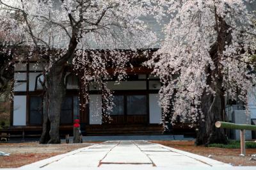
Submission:
M 102 75 L 107 74 L 102 71 L 106 62 L 113 61 L 122 68 L 127 59 L 117 50 L 108 59 L 101 59 L 99 53 L 93 52 L 89 59 L 86 51 L 148 47 L 156 36 L 148 31 L 140 17 L 152 13 L 151 6 L 149 1 L 141 0 L 0 1 L 0 20 L 10 23 L 0 31 L 8 29 L 10 33 L 19 34 L 22 37 L 20 46 L 28 49 L 24 54 L 26 59 L 36 58 L 38 64 L 44 65 L 44 122 L 40 143 L 60 143 L 65 68 L 73 65 L 76 72 L 86 70 L 81 86 L 87 86 L 92 80 L 100 83 Z M 19 60 L 22 55 L 16 56 Z M 90 63 L 86 63 L 88 61 Z M 79 67 L 81 65 L 86 68 Z M 125 70 L 116 69 L 117 72 L 123 77 Z M 109 93 L 108 89 L 104 91 Z

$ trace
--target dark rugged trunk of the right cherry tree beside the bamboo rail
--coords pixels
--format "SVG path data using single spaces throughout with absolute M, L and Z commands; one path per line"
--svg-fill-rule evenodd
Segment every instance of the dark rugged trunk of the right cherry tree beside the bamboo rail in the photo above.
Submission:
M 208 66 L 205 72 L 209 73 L 207 84 L 216 91 L 216 94 L 207 94 L 207 91 L 204 91 L 202 95 L 202 112 L 204 118 L 200 118 L 199 131 L 195 143 L 197 145 L 204 144 L 205 146 L 210 143 L 227 144 L 227 136 L 224 130 L 222 128 L 216 128 L 215 122 L 224 121 L 221 114 L 225 113 L 225 89 L 222 86 L 223 72 L 220 61 L 223 57 L 225 45 L 232 43 L 232 31 L 228 31 L 230 26 L 221 17 L 218 17 L 217 13 L 215 17 L 218 37 L 209 52 L 212 61 L 214 61 L 215 69 L 211 70 L 210 66 Z M 212 77 L 214 78 L 212 79 Z

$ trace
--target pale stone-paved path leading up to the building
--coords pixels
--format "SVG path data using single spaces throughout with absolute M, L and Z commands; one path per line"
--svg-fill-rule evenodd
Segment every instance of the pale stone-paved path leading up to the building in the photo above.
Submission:
M 229 164 L 147 141 L 107 141 L 20 169 L 230 169 Z

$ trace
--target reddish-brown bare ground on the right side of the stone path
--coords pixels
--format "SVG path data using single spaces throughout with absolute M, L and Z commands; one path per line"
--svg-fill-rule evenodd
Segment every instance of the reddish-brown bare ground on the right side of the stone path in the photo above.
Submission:
M 204 157 L 212 155 L 211 158 L 231 163 L 234 166 L 256 166 L 256 160 L 250 160 L 252 154 L 256 154 L 256 149 L 246 149 L 246 156 L 241 157 L 240 149 L 212 148 L 205 146 L 195 146 L 194 141 L 151 141 L 152 143 L 163 144 L 175 149 L 189 151 Z

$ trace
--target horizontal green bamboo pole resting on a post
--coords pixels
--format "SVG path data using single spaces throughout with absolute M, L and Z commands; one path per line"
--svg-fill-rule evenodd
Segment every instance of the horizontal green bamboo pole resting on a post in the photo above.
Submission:
M 256 125 L 228 123 L 228 122 L 225 122 L 225 121 L 216 121 L 215 127 L 217 127 L 217 128 L 232 128 L 232 129 L 240 129 L 240 130 L 244 129 L 244 130 L 256 131 Z

